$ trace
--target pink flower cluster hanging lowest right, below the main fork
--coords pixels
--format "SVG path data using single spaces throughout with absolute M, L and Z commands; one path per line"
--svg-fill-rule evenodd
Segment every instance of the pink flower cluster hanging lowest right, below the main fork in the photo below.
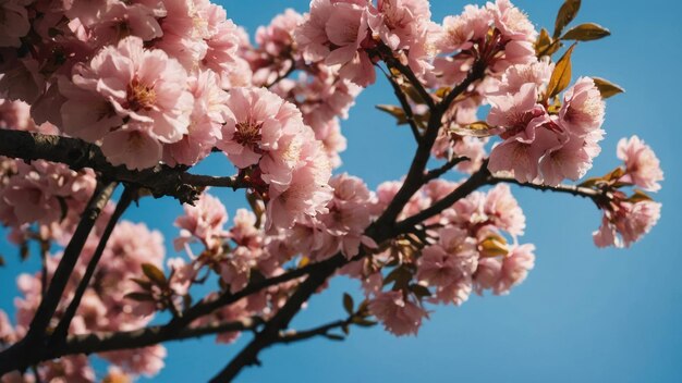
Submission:
M 392 199 L 399 186 L 395 183 L 379 186 L 378 210 Z M 418 213 L 456 186 L 444 181 L 430 182 L 409 202 L 401 217 Z M 504 184 L 487 194 L 471 194 L 425 224 L 434 227 L 427 233 L 437 238 L 435 244 L 410 250 L 411 245 L 398 242 L 392 249 L 375 256 L 373 262 L 356 262 L 344 270 L 364 281 L 366 294 L 374 296 L 370 311 L 397 335 L 416 334 L 422 320 L 428 317 L 425 302 L 459 306 L 472 292 L 483 294 L 490 289 L 497 295 L 509 294 L 533 269 L 535 247 L 516 245 L 516 237 L 525 228 L 525 217 Z M 513 244 L 508 244 L 506 235 L 514 238 Z M 395 261 L 400 265 L 385 276 L 381 268 Z M 404 273 L 411 284 L 401 280 Z M 381 292 L 381 286 L 391 282 L 395 283 L 393 291 Z M 433 289 L 431 295 L 425 298 L 412 286 Z

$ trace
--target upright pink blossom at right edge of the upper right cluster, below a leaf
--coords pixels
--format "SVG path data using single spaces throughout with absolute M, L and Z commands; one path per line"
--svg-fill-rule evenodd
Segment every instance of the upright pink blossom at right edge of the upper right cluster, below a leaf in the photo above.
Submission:
M 606 104 L 589 77 L 581 77 L 563 94 L 560 121 L 569 132 L 582 137 L 601 127 Z

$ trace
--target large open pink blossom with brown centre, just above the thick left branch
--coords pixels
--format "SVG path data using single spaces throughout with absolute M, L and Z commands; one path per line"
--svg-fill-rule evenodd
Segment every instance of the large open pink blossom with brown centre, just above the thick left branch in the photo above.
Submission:
M 93 95 L 90 103 L 99 102 L 97 110 L 107 116 L 100 120 L 106 125 L 98 132 L 105 135 L 102 150 L 113 164 L 149 168 L 161 158 L 161 143 L 179 141 L 187 133 L 193 97 L 187 91 L 184 69 L 160 50 L 144 49 L 139 38 L 127 37 L 117 47 L 103 48 L 88 65 L 74 69 L 73 82 L 99 95 Z M 69 100 L 62 106 L 64 128 L 77 134 L 88 118 L 73 115 L 90 113 L 80 103 L 86 96 L 76 96 L 75 91 L 65 96 Z M 106 100 L 109 108 L 97 100 Z M 109 118 L 114 114 L 129 122 L 106 134 L 120 121 Z

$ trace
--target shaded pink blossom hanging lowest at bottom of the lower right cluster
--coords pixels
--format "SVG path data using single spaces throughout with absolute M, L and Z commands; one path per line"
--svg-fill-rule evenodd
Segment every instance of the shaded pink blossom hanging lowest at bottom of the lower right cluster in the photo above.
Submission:
M 424 308 L 405 298 L 402 292 L 379 293 L 369 301 L 369 312 L 383 323 L 386 330 L 401 335 L 416 335 L 422 320 L 428 318 Z

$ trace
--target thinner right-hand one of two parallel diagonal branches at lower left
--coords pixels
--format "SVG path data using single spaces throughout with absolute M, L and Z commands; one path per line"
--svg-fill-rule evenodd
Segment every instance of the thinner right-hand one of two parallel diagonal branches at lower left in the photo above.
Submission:
M 76 291 L 71 300 L 71 304 L 69 304 L 69 307 L 64 311 L 64 314 L 62 316 L 59 324 L 57 325 L 57 329 L 51 335 L 50 347 L 59 348 L 59 345 L 66 339 L 69 326 L 71 325 L 71 321 L 73 320 L 73 317 L 76 314 L 76 310 L 78 309 L 78 306 L 81 305 L 81 299 L 83 298 L 83 294 L 85 294 L 86 288 L 90 284 L 90 279 L 95 274 L 95 270 L 97 269 L 99 259 L 101 258 L 102 254 L 105 252 L 105 249 L 107 248 L 107 243 L 109 242 L 109 237 L 111 236 L 113 228 L 119 222 L 119 219 L 121 218 L 121 215 L 123 215 L 123 212 L 125 212 L 127 207 L 133 201 L 134 193 L 135 193 L 134 189 L 130 187 L 126 187 L 123 190 L 123 194 L 121 195 L 121 199 L 117 203 L 115 210 L 109 218 L 109 222 L 107 223 L 107 226 L 105 227 L 105 231 L 102 232 L 101 237 L 99 238 L 99 244 L 97 244 L 95 254 L 93 254 L 93 257 L 90 258 L 90 261 L 87 264 L 85 274 L 81 279 L 81 282 L 78 283 L 78 287 L 76 287 Z

